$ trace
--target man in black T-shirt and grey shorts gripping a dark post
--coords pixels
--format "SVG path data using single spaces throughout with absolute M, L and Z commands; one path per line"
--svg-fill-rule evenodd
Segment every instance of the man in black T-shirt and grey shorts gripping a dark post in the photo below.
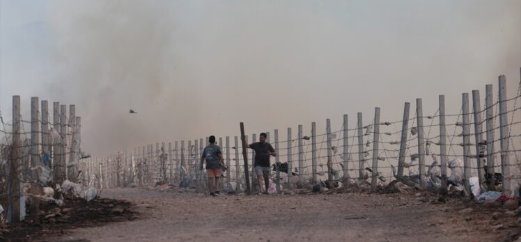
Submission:
M 272 145 L 266 142 L 266 138 L 266 133 L 260 133 L 260 141 L 247 146 L 255 150 L 254 168 L 258 179 L 258 191 L 264 194 L 267 194 L 267 189 L 270 187 L 270 156 L 277 156 Z M 262 186 L 263 180 L 266 187 L 264 192 Z

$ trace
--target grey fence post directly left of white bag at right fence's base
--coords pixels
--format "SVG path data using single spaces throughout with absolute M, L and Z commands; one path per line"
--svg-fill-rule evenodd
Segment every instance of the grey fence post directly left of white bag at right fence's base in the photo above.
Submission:
M 472 195 L 470 191 L 470 129 L 469 129 L 469 94 L 467 92 L 462 95 L 462 112 L 463 112 L 463 180 L 465 181 L 465 191 L 467 194 Z

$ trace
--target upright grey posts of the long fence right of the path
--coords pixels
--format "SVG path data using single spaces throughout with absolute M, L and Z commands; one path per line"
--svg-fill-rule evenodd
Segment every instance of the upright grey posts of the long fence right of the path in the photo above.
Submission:
M 493 102 L 493 94 L 492 94 L 492 85 L 487 85 L 485 89 L 485 104 L 486 104 L 486 161 L 488 165 L 488 172 L 489 174 L 495 173 L 495 166 L 494 166 L 494 156 L 492 153 L 494 153 L 495 147 L 494 147 L 494 113 L 492 106 L 495 105 Z M 442 180 L 442 192 L 446 193 L 447 191 L 447 143 L 446 143 L 446 123 L 445 123 L 445 98 L 444 95 L 439 96 L 439 122 L 440 122 L 440 166 L 441 166 L 441 180 Z M 481 108 L 480 108 L 480 96 L 479 96 L 479 90 L 473 90 L 472 91 L 472 106 L 473 106 L 473 115 L 474 115 L 474 134 L 476 139 L 475 149 L 476 149 L 476 156 L 472 156 L 470 153 L 470 141 L 469 136 L 471 135 L 470 132 L 470 124 L 469 124 L 469 115 L 471 114 L 469 112 L 469 94 L 463 93 L 462 94 L 462 128 L 463 128 L 463 164 L 464 164 L 464 180 L 465 180 L 465 189 L 467 190 L 467 193 L 469 193 L 469 177 L 470 177 L 470 159 L 475 157 L 477 159 L 477 166 L 478 166 L 478 176 L 479 176 L 479 184 L 482 184 L 484 179 L 484 174 L 481 171 L 482 163 L 479 159 L 480 154 L 480 147 L 479 145 L 482 144 L 481 142 Z M 506 120 L 506 114 L 507 114 L 507 106 L 506 106 L 506 79 L 505 76 L 501 75 L 499 76 L 499 118 L 500 118 L 500 140 L 501 140 L 501 173 L 503 174 L 503 181 L 502 181 L 502 190 L 505 193 L 509 193 L 509 189 L 511 189 L 510 181 L 508 179 L 509 177 L 509 170 L 508 170 L 508 125 Z M 425 144 L 426 144 L 426 138 L 423 136 L 423 110 L 422 110 L 422 99 L 418 98 L 416 99 L 416 121 L 417 121 L 417 149 L 418 149 L 418 161 L 419 161 L 419 182 L 420 186 L 423 188 L 426 188 L 426 181 L 424 179 L 424 176 L 426 174 L 425 171 L 425 156 L 426 156 L 426 150 L 425 150 Z M 398 178 L 403 178 L 403 170 L 404 170 L 404 163 L 405 163 L 405 154 L 407 150 L 407 132 L 410 130 L 409 128 L 409 120 L 410 120 L 410 103 L 405 102 L 405 106 L 403 109 L 403 121 L 402 121 L 402 128 L 401 128 L 401 141 L 400 141 L 400 148 L 398 153 Z M 374 113 L 374 123 L 373 125 L 373 156 L 372 156 L 372 167 L 373 170 L 371 175 L 371 186 L 375 187 L 378 183 L 378 152 L 379 150 L 379 140 L 380 140 L 380 108 L 375 108 Z M 366 153 L 366 150 L 364 150 L 364 132 L 363 132 L 363 120 L 362 120 L 362 113 L 357 113 L 357 138 L 358 138 L 358 162 L 359 162 L 359 179 L 363 179 L 364 177 L 364 163 L 366 162 L 366 158 L 364 154 Z M 349 172 L 348 172 L 348 159 L 350 157 L 349 154 L 349 144 L 348 144 L 348 115 L 343 115 L 343 180 L 345 186 L 348 186 L 349 182 L 348 179 L 350 179 Z M 293 171 L 293 156 L 292 152 L 290 150 L 293 149 L 292 147 L 292 129 L 288 128 L 288 151 L 287 152 L 287 161 L 288 161 L 288 184 L 286 186 L 290 187 L 290 180 L 291 180 L 291 172 Z M 329 119 L 326 120 L 326 136 L 327 136 L 327 173 L 328 173 L 328 180 L 331 181 L 333 179 L 332 177 L 332 131 L 331 131 L 331 122 Z M 316 140 L 316 123 L 311 123 L 311 166 L 312 166 L 312 181 L 313 184 L 317 182 L 317 140 Z M 308 138 L 309 139 L 309 138 Z M 219 138 L 219 144 L 222 145 L 223 141 L 222 138 Z M 248 143 L 248 136 L 244 136 L 244 140 L 246 143 Z M 303 141 L 304 135 L 302 131 L 302 124 L 298 126 L 298 134 L 297 134 L 297 148 L 298 148 L 298 157 L 297 157 L 297 168 L 299 171 L 304 170 L 304 150 L 303 150 Z M 256 141 L 256 134 L 252 136 L 251 142 Z M 267 133 L 267 142 L 270 142 L 270 133 Z M 277 129 L 274 130 L 274 142 L 275 142 L 275 149 L 279 150 L 279 131 Z M 171 184 L 178 184 L 181 178 L 181 170 L 180 166 L 182 164 L 185 164 L 185 150 L 187 150 L 188 154 L 187 157 L 190 158 L 192 163 L 189 165 L 190 168 L 195 169 L 195 179 L 196 181 L 196 189 L 198 191 L 201 191 L 201 188 L 205 187 L 205 184 L 202 183 L 202 181 L 205 179 L 204 175 L 201 175 L 201 172 L 199 170 L 199 157 L 201 157 L 201 153 L 203 151 L 203 139 L 194 140 L 194 154 L 192 154 L 192 140 L 187 141 L 188 148 L 185 147 L 185 140 L 182 140 L 180 142 L 180 156 L 178 151 L 178 142 L 176 141 L 174 143 L 173 149 L 172 144 L 169 143 L 169 149 L 167 153 L 168 157 L 168 163 L 169 163 L 169 177 L 167 179 L 166 177 L 166 170 L 163 172 L 163 179 L 164 181 L 169 181 Z M 235 179 L 237 181 L 237 184 L 239 184 L 239 179 L 243 175 L 241 175 L 240 170 L 241 166 L 239 159 L 239 149 L 240 143 L 239 143 L 239 137 L 234 137 L 234 144 L 235 147 L 233 147 L 233 150 L 235 150 Z M 206 145 L 208 145 L 208 137 L 206 138 Z M 160 157 L 160 146 L 159 143 L 156 143 L 155 145 L 155 156 L 153 156 L 153 145 L 147 145 L 146 150 L 145 147 L 136 148 L 134 149 L 134 152 L 130 156 L 131 160 L 134 161 L 134 167 L 140 168 L 141 170 L 137 171 L 137 183 L 139 186 L 146 186 L 147 184 L 153 184 L 155 181 L 158 181 L 159 178 L 157 175 L 157 159 Z M 163 143 L 162 147 L 165 147 L 165 144 Z M 230 137 L 226 136 L 226 152 L 225 152 L 225 159 L 226 159 L 226 165 L 228 168 L 231 167 L 231 153 L 230 153 Z M 146 152 L 145 152 L 146 151 Z M 130 159 L 125 154 L 125 164 Z M 192 156 L 195 157 L 195 159 L 192 159 Z M 251 152 L 251 159 L 253 161 L 253 157 L 255 156 L 254 152 Z M 276 162 L 279 161 L 279 156 L 275 158 Z M 103 177 L 103 169 L 108 169 L 107 174 L 105 174 L 106 177 L 102 179 L 102 181 L 105 181 L 105 179 L 114 179 L 113 173 L 116 171 L 116 173 L 119 173 L 120 170 L 114 170 L 116 168 L 109 165 L 109 161 L 111 161 L 110 157 L 104 158 L 104 159 L 90 159 L 88 160 L 91 165 L 88 167 L 90 168 L 88 174 L 91 174 L 93 172 L 93 169 L 95 170 L 96 176 Z M 136 165 L 136 163 L 141 163 L 141 165 Z M 174 164 L 175 163 L 175 164 Z M 244 167 L 243 167 L 244 168 Z M 125 168 L 125 171 L 127 169 Z M 152 171 L 150 173 L 150 171 Z M 125 177 L 125 173 L 123 173 Z M 249 176 L 249 172 L 247 170 L 244 170 L 244 175 Z M 108 177 L 107 177 L 108 176 Z M 252 179 L 254 179 L 254 182 L 256 182 L 256 172 L 254 172 L 254 168 L 251 168 L 251 176 Z M 279 191 L 279 184 L 280 184 L 280 174 L 279 170 L 276 171 L 276 182 L 277 182 L 277 192 Z M 492 179 L 494 179 L 494 176 L 492 176 Z M 302 172 L 299 172 L 298 180 L 302 181 Z M 125 179 L 127 181 L 127 179 Z M 228 184 L 231 181 L 231 174 L 230 169 L 226 171 L 226 181 L 223 183 Z M 109 184 L 104 183 L 101 184 L 100 187 L 103 186 L 109 186 L 111 187 L 111 184 L 119 184 L 119 178 L 117 177 L 117 181 L 112 181 Z M 494 184 L 494 181 L 492 180 L 491 184 Z M 123 184 L 124 186 L 125 184 Z M 239 186 L 237 186 L 239 189 Z M 489 189 L 492 189 L 492 186 L 489 187 Z

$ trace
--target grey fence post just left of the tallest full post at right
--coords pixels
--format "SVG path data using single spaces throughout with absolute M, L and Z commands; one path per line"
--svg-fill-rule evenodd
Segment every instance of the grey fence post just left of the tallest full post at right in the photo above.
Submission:
M 492 92 L 492 84 L 485 86 L 485 104 L 486 104 L 486 120 L 487 120 L 487 170 L 490 175 L 490 184 L 488 190 L 495 190 L 496 178 L 495 174 L 495 156 L 494 154 L 494 93 Z

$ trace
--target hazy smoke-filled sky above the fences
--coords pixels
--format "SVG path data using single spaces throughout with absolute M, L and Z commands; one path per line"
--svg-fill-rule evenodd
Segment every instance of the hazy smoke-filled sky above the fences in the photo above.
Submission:
M 83 150 L 238 135 L 520 82 L 521 1 L 0 0 L 0 110 L 76 104 Z M 497 90 L 497 89 L 496 89 Z M 130 115 L 132 108 L 138 113 Z

